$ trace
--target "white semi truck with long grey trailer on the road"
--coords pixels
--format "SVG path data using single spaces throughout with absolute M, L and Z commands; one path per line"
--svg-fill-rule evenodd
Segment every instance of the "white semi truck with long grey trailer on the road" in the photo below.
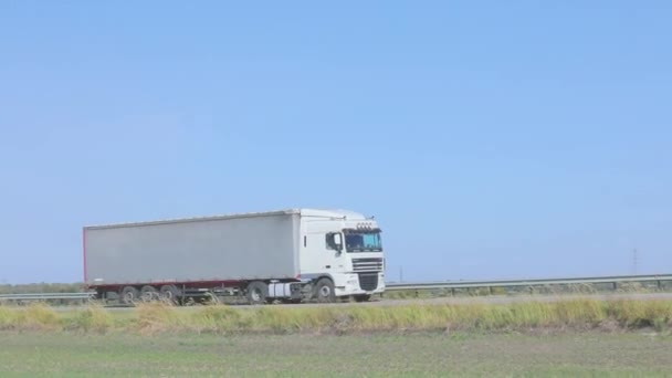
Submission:
M 380 229 L 345 210 L 85 227 L 84 282 L 101 300 L 368 301 L 385 291 Z

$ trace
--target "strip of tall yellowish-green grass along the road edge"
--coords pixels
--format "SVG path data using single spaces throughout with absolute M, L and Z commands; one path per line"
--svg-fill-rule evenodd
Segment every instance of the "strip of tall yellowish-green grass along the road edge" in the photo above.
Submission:
M 672 301 L 568 300 L 508 304 L 260 306 L 161 303 L 133 311 L 99 306 L 55 311 L 43 304 L 0 306 L 0 330 L 196 334 L 358 334 L 397 332 L 631 330 L 672 328 Z

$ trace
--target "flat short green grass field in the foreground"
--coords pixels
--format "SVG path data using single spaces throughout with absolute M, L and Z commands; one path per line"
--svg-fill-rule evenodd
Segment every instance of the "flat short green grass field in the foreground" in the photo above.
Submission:
M 672 375 L 672 338 L 648 333 L 0 335 L 1 377 Z

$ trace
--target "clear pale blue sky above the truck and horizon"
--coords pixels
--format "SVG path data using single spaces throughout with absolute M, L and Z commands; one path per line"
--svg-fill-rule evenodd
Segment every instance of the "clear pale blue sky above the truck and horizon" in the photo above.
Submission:
M 672 273 L 670 1 L 1 1 L 0 282 L 345 208 L 406 281 Z

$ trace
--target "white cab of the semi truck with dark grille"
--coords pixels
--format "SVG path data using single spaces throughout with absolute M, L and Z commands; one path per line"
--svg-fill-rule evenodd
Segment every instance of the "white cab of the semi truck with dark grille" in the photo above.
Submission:
M 318 302 L 368 301 L 385 291 L 381 230 L 372 218 L 345 210 L 302 210 L 300 272 Z

